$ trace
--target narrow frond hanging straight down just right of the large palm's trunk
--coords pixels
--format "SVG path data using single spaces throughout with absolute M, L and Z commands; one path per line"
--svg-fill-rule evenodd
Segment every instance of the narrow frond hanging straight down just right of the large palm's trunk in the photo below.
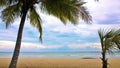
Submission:
M 40 40 L 42 42 L 42 25 L 41 25 L 41 18 L 38 15 L 37 11 L 35 10 L 34 7 L 30 8 L 30 24 L 33 25 L 34 27 L 36 27 L 38 29 L 38 31 L 40 32 Z

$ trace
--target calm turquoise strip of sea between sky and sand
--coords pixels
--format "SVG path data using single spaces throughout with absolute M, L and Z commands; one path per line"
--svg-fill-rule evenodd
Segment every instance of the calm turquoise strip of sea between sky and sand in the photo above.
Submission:
M 0 52 L 0 58 L 11 58 L 13 53 Z M 100 52 L 22 52 L 20 58 L 100 58 Z M 120 52 L 107 54 L 108 58 L 120 58 Z

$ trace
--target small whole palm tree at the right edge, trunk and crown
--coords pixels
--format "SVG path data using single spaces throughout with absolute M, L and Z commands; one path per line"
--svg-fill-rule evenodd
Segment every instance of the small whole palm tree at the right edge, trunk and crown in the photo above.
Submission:
M 98 30 L 101 48 L 102 48 L 102 68 L 107 68 L 108 58 L 106 53 L 112 53 L 112 49 L 120 49 L 120 29 L 111 29 L 108 31 Z

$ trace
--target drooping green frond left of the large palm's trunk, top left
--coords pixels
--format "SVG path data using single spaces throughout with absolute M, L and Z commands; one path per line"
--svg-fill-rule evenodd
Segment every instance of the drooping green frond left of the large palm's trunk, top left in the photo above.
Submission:
M 6 28 L 13 23 L 14 19 L 20 15 L 19 4 L 8 6 L 2 11 L 2 20 L 6 23 Z

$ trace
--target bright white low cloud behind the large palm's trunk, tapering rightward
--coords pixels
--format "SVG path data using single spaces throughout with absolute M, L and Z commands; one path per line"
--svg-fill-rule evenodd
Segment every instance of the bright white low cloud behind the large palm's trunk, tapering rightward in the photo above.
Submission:
M 15 42 L 12 41 L 0 41 L 0 49 L 13 49 L 15 47 Z M 41 45 L 34 43 L 22 42 L 21 49 L 56 49 L 60 48 L 59 45 Z

